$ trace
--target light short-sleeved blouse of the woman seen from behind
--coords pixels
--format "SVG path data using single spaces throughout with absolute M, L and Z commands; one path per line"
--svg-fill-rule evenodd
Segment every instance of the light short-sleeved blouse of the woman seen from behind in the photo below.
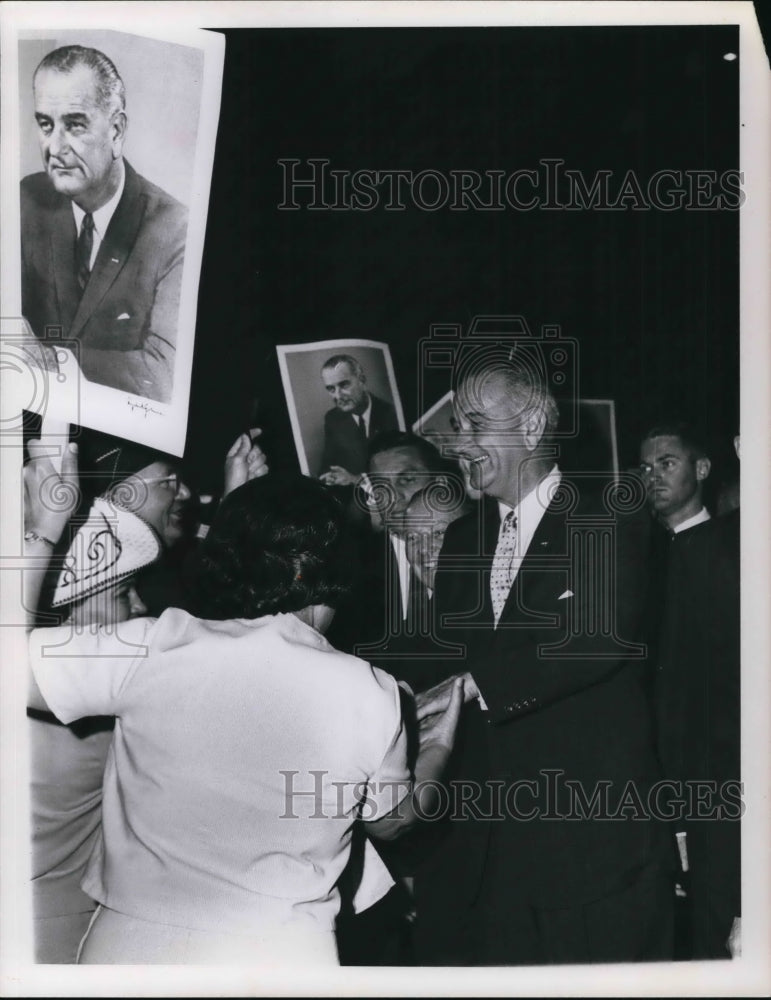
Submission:
M 360 813 L 409 789 L 394 679 L 295 615 L 31 634 L 62 722 L 115 715 L 83 880 L 120 913 L 203 931 L 327 931 Z

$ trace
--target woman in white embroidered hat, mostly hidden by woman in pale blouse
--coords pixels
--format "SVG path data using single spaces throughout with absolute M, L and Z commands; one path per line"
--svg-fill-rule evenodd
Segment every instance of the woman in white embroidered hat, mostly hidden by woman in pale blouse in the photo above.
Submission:
M 25 551 L 36 557 L 32 575 L 42 582 L 42 567 L 69 523 L 77 494 L 75 452 L 65 455 L 62 478 L 40 456 L 39 442 L 30 441 L 29 450 Z M 47 502 L 40 504 L 40 497 Z M 73 636 L 95 624 L 116 626 L 146 614 L 135 577 L 160 553 L 158 536 L 145 521 L 95 499 L 88 517 L 73 526 L 57 561 L 51 611 L 59 613 Z M 66 655 L 66 643 L 58 639 L 57 645 L 49 655 Z M 28 716 L 35 957 L 42 963 L 71 963 L 96 908 L 80 880 L 101 822 L 102 775 L 114 720 L 95 717 L 64 726 L 43 709 L 29 708 Z

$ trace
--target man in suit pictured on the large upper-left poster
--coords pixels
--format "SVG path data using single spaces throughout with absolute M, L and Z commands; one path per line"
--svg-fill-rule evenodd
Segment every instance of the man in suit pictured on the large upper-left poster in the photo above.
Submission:
M 22 312 L 88 381 L 169 402 L 187 210 L 124 160 L 125 90 L 107 56 L 55 49 L 33 90 L 45 170 L 21 183 Z

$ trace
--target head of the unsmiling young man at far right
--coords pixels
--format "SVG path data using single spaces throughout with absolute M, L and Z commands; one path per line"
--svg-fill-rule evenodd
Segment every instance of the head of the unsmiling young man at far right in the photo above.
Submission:
M 669 531 L 686 531 L 709 520 L 702 494 L 710 460 L 684 423 L 653 427 L 640 445 L 640 469 L 654 516 Z

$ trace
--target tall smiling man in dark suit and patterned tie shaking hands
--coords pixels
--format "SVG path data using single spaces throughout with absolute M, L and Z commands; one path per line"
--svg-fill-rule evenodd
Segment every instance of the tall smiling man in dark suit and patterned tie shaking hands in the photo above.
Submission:
M 457 453 L 486 499 L 481 528 L 447 529 L 436 575 L 439 619 L 466 644 L 467 751 L 462 791 L 449 783 L 451 835 L 416 879 L 419 956 L 665 960 L 639 519 L 563 479 L 549 444 L 557 407 L 536 368 L 482 357 L 456 386 Z M 419 717 L 451 683 L 418 695 Z

